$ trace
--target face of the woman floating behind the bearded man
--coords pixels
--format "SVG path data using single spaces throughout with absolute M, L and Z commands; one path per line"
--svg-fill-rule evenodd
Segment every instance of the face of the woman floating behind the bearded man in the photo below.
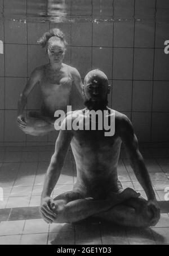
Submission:
M 55 44 L 52 44 L 48 46 L 48 57 L 50 58 L 50 61 L 52 63 L 60 63 L 63 62 L 63 59 L 65 57 L 65 46 L 61 42 L 56 42 Z

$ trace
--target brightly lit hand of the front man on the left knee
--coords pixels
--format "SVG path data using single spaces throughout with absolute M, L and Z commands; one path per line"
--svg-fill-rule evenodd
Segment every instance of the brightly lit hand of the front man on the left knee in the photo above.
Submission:
M 42 199 L 40 214 L 42 218 L 45 220 L 45 222 L 50 224 L 55 222 L 56 220 L 56 214 L 54 212 L 55 209 L 56 207 L 55 207 L 55 202 L 53 198 L 46 197 Z

